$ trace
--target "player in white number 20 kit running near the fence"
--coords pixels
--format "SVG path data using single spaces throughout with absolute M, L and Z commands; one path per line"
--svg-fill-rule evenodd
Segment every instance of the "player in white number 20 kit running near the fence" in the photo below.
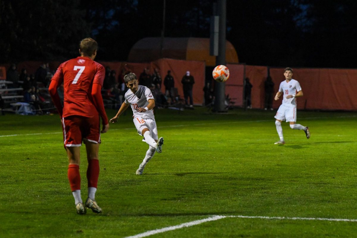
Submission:
M 306 138 L 310 138 L 309 128 L 307 126 L 296 124 L 296 97 L 302 97 L 303 94 L 300 83 L 297 80 L 291 78 L 292 73 L 293 71 L 291 68 L 286 68 L 284 70 L 285 80 L 280 83 L 279 91 L 276 93 L 274 98 L 275 101 L 277 101 L 281 95 L 284 95 L 282 104 L 280 105 L 275 115 L 276 131 L 278 132 L 280 140 L 274 144 L 285 144 L 283 129 L 281 127 L 282 121 L 290 122 L 291 129 L 305 131 Z

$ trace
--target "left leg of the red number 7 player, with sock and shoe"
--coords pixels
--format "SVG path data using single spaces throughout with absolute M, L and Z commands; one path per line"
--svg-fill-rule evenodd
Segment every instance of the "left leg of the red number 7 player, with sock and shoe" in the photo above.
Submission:
M 66 147 L 66 150 L 69 160 L 67 175 L 71 186 L 71 191 L 75 200 L 77 213 L 85 214 L 86 209 L 83 206 L 83 201 L 81 198 L 81 175 L 79 173 L 80 147 L 70 146 Z

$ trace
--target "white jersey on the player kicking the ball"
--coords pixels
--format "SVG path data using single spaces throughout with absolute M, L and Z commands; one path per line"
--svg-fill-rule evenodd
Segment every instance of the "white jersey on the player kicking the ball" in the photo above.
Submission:
M 139 112 L 139 107 L 146 107 L 149 104 L 149 99 L 154 99 L 149 88 L 139 85 L 138 90 L 134 94 L 130 89 L 125 93 L 125 104 L 130 104 L 135 117 L 141 117 L 143 119 L 155 119 L 154 110 L 146 112 Z

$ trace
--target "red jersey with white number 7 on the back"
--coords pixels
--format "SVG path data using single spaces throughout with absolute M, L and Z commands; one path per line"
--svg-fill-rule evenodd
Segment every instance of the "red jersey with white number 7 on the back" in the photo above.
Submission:
M 64 105 L 62 117 L 73 115 L 97 116 L 99 111 L 91 95 L 92 85 L 98 83 L 102 87 L 104 77 L 104 67 L 89 57 L 80 56 L 62 63 L 52 77 L 52 80 L 56 80 L 58 85 L 63 82 Z

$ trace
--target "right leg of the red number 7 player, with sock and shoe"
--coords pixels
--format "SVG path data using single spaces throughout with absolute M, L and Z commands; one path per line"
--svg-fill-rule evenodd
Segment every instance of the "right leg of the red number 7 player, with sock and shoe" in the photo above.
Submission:
M 97 191 L 99 177 L 99 143 L 86 141 L 86 151 L 88 159 L 87 180 L 88 180 L 88 198 L 86 207 L 92 209 L 95 213 L 101 213 L 102 209 L 95 201 L 95 193 Z

